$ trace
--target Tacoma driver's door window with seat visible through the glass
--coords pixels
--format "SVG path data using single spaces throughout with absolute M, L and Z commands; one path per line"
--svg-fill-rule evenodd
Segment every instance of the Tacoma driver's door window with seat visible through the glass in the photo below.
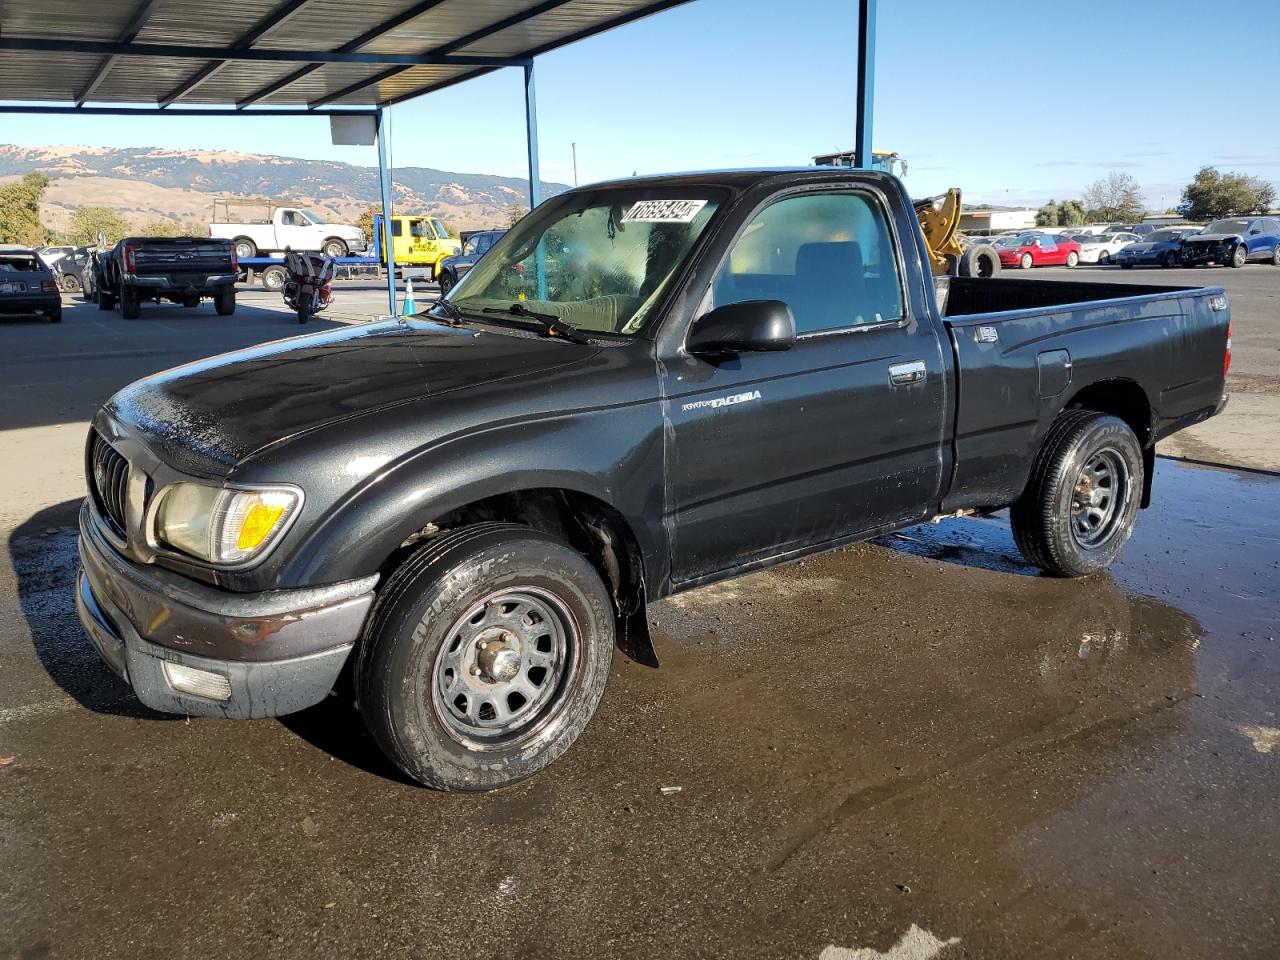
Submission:
M 879 204 L 864 193 L 809 193 L 748 224 L 712 282 L 712 307 L 781 300 L 796 333 L 902 319 L 902 282 Z

